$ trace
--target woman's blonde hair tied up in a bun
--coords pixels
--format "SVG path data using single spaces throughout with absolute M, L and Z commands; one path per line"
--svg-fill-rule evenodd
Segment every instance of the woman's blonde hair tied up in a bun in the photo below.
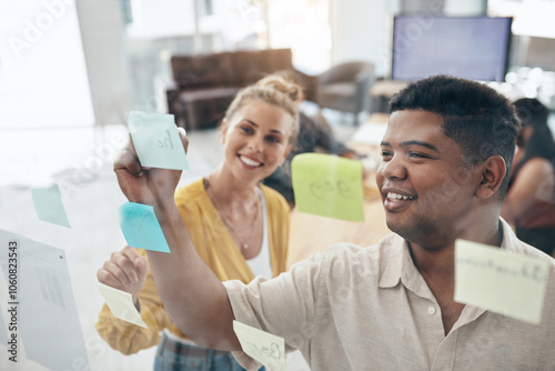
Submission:
M 269 79 L 270 77 L 264 79 Z M 261 84 L 260 82 L 264 79 L 239 91 L 225 112 L 225 120 L 230 121 L 240 109 L 252 101 L 265 102 L 281 108 L 293 118 L 293 128 L 289 139 L 291 143 L 296 139 L 300 130 L 299 111 L 295 104 L 297 98 L 294 91 L 302 93 L 302 88 L 279 77 L 272 77 L 272 84 Z

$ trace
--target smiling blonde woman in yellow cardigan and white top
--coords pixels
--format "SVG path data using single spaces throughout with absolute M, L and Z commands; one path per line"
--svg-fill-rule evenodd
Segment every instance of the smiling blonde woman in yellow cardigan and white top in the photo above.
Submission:
M 176 190 L 175 203 L 191 241 L 220 280 L 250 282 L 255 275 L 271 278 L 285 270 L 290 209 L 281 194 L 260 181 L 283 163 L 297 132 L 299 114 L 290 94 L 245 88 L 222 121 L 222 163 L 206 178 Z M 143 177 L 150 176 L 145 170 Z M 97 329 L 112 348 L 130 354 L 159 344 L 154 370 L 242 370 L 230 352 L 196 347 L 179 331 L 163 309 L 144 251 L 125 247 L 112 253 L 97 275 L 130 292 L 149 327 L 115 319 L 104 304 Z

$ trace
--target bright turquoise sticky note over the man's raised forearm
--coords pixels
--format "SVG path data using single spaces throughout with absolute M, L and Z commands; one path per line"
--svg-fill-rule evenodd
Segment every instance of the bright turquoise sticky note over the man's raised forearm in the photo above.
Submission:
M 154 208 L 148 204 L 125 202 L 120 207 L 120 227 L 132 248 L 170 252 Z

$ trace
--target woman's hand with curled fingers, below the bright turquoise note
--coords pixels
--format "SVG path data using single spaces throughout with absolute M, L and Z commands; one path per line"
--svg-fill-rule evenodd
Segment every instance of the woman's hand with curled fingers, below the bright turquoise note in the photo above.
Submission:
M 147 259 L 130 247 L 112 252 L 110 260 L 107 260 L 104 265 L 97 271 L 100 283 L 129 292 L 138 309 L 139 291 L 141 291 L 148 274 Z

